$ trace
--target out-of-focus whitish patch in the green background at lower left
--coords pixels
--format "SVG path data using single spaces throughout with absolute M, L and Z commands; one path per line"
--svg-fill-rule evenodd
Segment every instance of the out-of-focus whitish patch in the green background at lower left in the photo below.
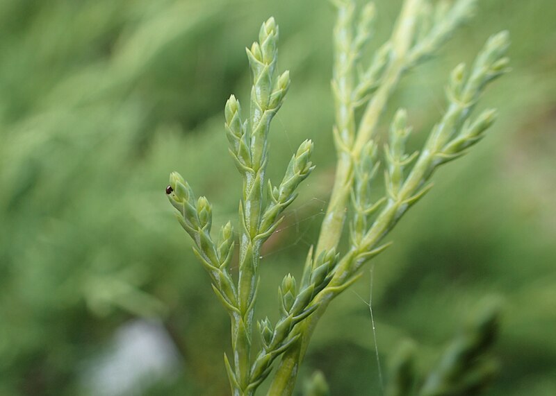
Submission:
M 141 395 L 150 384 L 178 375 L 181 361 L 172 339 L 158 322 L 134 320 L 114 335 L 111 347 L 83 371 L 89 395 Z

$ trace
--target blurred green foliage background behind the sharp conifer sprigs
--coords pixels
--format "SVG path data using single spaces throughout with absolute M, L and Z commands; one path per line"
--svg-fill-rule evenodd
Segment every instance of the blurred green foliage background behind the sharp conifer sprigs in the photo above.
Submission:
M 401 3 L 376 2 L 369 54 Z M 505 300 L 502 372 L 487 394 L 556 395 L 556 5 L 479 6 L 435 60 L 404 79 L 382 120 L 384 132 L 393 110 L 407 107 L 414 144 L 423 141 L 443 111 L 450 69 L 471 62 L 491 33 L 511 32 L 513 71 L 482 101 L 500 109 L 499 121 L 471 154 L 439 171 L 391 235 L 394 247 L 375 261 L 378 350 L 385 365 L 411 338 L 425 370 L 461 318 L 496 293 Z M 332 6 L 0 1 L 0 395 L 229 393 L 228 319 L 164 187 L 179 171 L 214 204 L 215 223 L 235 221 L 240 178 L 223 107 L 231 93 L 247 100 L 244 47 L 270 15 L 280 24 L 280 68 L 292 76 L 272 127 L 270 178 L 281 177 L 305 138 L 315 141 L 318 168 L 263 252 L 263 316 L 277 312 L 281 277 L 300 275 L 332 185 Z M 332 304 L 300 383 L 320 369 L 333 395 L 381 394 L 369 289 L 367 273 Z M 106 378 L 123 377 L 107 363 L 115 336 L 138 319 L 169 334 L 177 353 L 163 375 L 110 393 Z M 105 374 L 95 377 L 99 367 Z

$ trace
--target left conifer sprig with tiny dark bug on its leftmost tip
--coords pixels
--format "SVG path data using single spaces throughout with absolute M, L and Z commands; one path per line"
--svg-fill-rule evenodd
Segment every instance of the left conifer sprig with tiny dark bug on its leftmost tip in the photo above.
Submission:
M 290 85 L 288 71 L 280 75 L 276 72 L 278 36 L 278 26 L 274 18 L 270 18 L 261 26 L 259 42 L 254 42 L 247 49 L 253 78 L 249 117 L 243 121 L 240 102 L 234 95 L 230 96 L 224 108 L 229 153 L 243 178 L 243 194 L 238 211 L 240 241 L 237 282 L 234 282 L 228 270 L 234 250 L 230 223 L 222 227 L 218 240 L 213 241 L 212 207 L 208 200 L 201 197 L 195 202 L 193 190 L 175 172 L 170 175 L 170 188 L 167 189 L 170 203 L 179 212 L 177 217 L 181 225 L 195 241 L 195 255 L 211 276 L 213 289 L 229 312 L 233 359 L 230 361 L 224 355 L 224 363 L 232 393 L 241 396 L 254 393 L 270 372 L 272 361 L 295 341 L 295 336 L 290 337 L 293 326 L 315 310 L 307 309 L 314 297 L 312 291 L 302 291 L 297 295 L 295 288 L 288 289 L 284 295 L 295 298 L 293 306 L 283 312 L 284 318 L 277 323 L 270 338 L 270 322 L 259 322 L 259 333 L 263 341 L 268 338 L 268 343 L 263 342 L 263 351 L 256 361 L 251 361 L 261 246 L 275 231 L 281 213 L 297 196 L 295 189 L 314 169 L 311 163 L 313 143 L 306 140 L 293 155 L 278 186 L 272 186 L 270 180 L 265 178 L 270 121 L 284 102 Z M 264 191 L 267 184 L 267 191 Z

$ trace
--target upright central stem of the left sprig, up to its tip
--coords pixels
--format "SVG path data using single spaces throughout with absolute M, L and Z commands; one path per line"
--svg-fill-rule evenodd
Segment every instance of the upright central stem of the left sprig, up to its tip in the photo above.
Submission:
M 262 240 L 261 216 L 263 213 L 263 187 L 268 157 L 268 130 L 270 121 L 277 112 L 281 100 L 271 103 L 271 94 L 285 94 L 289 83 L 276 87 L 275 65 L 278 31 L 275 20 L 270 18 L 261 26 L 259 43 L 247 50 L 253 71 L 253 86 L 250 105 L 250 164 L 243 173 L 243 197 L 240 203 L 240 257 L 238 276 L 238 318 L 232 318 L 234 368 L 236 388 L 234 396 L 254 394 L 251 384 L 251 341 L 256 293 L 259 285 L 259 257 Z M 234 384 L 232 384 L 234 387 Z

